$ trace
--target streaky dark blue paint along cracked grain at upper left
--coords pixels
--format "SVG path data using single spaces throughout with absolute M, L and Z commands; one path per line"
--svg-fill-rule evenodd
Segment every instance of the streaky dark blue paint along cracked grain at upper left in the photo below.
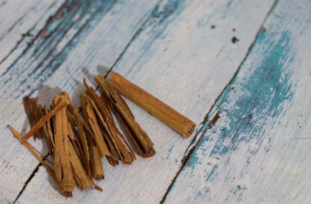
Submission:
M 0 85 L 10 87 L 13 90 L 11 97 L 16 99 L 26 91 L 30 95 L 34 93 L 38 89 L 35 82 L 43 83 L 52 76 L 67 58 L 69 52 L 83 42 L 83 39 L 108 13 L 115 2 L 68 1 L 63 16 L 54 19 L 49 24 L 45 37 L 39 36 L 40 40 L 35 43 L 33 41 L 26 47 L 2 74 Z M 77 16 L 78 19 L 76 19 Z M 70 28 L 76 28 L 77 32 L 73 35 L 67 33 Z M 63 50 L 57 50 L 56 46 L 61 40 L 63 40 L 62 43 L 65 41 L 67 45 Z M 4 75 L 5 77 L 3 77 Z M 20 83 L 16 84 L 16 81 Z

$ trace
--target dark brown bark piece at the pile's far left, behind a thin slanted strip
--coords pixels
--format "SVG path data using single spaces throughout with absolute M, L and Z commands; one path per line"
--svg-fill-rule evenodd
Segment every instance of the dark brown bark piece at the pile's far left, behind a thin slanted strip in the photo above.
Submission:
M 29 123 L 30 123 L 30 128 L 35 126 L 35 124 L 42 117 L 42 114 L 41 114 L 39 108 L 37 107 L 37 100 L 38 100 L 38 97 L 37 98 L 30 98 L 29 96 L 26 96 L 23 98 L 24 109 L 25 109 L 26 115 L 27 115 Z M 36 138 L 42 139 L 43 136 L 44 136 L 43 131 L 40 128 L 37 132 L 35 132 L 35 134 L 33 135 L 33 138 L 34 138 L 34 140 L 36 140 Z

